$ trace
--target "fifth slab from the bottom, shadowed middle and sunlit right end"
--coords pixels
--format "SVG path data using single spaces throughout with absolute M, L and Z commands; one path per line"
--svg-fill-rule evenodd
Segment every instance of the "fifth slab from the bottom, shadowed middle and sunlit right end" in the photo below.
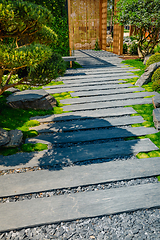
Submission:
M 75 120 L 69 122 L 55 122 L 49 124 L 41 124 L 36 127 L 31 127 L 30 130 L 36 130 L 39 133 L 47 132 L 59 132 L 59 131 L 73 131 L 81 129 L 102 128 L 102 127 L 114 127 L 125 126 L 130 124 L 143 123 L 141 116 L 126 116 L 119 118 L 101 118 L 101 119 L 86 119 Z

